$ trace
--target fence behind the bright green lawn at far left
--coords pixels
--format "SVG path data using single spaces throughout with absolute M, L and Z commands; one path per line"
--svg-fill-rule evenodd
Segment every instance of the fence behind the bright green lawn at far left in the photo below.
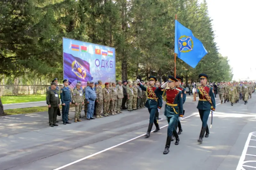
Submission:
M 0 85 L 0 96 L 46 94 L 49 87 L 50 85 Z

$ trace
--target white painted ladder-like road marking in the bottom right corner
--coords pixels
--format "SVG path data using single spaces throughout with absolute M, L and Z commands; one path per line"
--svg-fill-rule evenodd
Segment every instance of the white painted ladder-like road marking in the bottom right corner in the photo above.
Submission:
M 248 138 L 247 138 L 247 140 L 246 140 L 246 142 L 245 142 L 245 144 L 244 144 L 244 150 L 243 150 L 242 155 L 241 155 L 241 157 L 240 157 L 240 159 L 239 159 L 239 162 L 238 162 L 238 165 L 237 165 L 237 167 L 236 167 L 236 170 L 245 170 L 245 169 L 243 168 L 243 166 L 245 166 L 245 167 L 251 167 L 251 168 L 256 168 L 255 166 L 244 165 L 244 163 L 247 163 L 247 162 L 256 162 L 256 161 L 252 161 L 252 160 L 244 161 L 245 156 L 246 156 L 246 155 L 249 155 L 249 154 L 246 154 L 248 147 L 256 147 L 256 146 L 249 146 L 250 140 L 251 140 L 252 136 L 256 136 L 256 132 L 251 132 L 251 133 L 249 133 Z M 251 155 L 251 156 L 252 156 L 252 155 Z

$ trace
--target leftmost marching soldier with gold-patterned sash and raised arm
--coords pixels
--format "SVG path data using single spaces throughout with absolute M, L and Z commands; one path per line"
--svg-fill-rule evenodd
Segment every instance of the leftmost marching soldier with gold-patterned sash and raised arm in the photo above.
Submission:
M 157 132 L 160 130 L 159 124 L 158 124 L 158 120 L 156 117 L 156 111 L 157 108 L 161 109 L 162 107 L 162 96 L 156 96 L 155 94 L 155 90 L 156 90 L 156 86 L 155 86 L 155 82 L 157 81 L 155 76 L 149 76 L 149 86 L 145 87 L 140 83 L 140 80 L 137 79 L 137 83 L 139 83 L 139 86 L 142 90 L 146 91 L 148 94 L 148 100 L 146 102 L 146 107 L 148 108 L 148 112 L 150 114 L 149 116 L 149 125 L 148 125 L 148 131 L 147 134 L 145 135 L 146 138 L 150 137 L 150 132 L 151 129 L 153 127 L 153 123 L 156 126 L 156 130 L 154 132 Z

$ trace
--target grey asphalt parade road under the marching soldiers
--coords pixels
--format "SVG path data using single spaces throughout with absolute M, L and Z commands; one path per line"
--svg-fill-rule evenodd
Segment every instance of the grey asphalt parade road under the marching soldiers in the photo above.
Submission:
M 216 103 L 220 103 L 219 99 Z M 253 94 L 247 105 L 242 101 L 234 106 L 218 104 L 209 138 L 199 145 L 197 102 L 188 96 L 180 144 L 172 142 L 167 155 L 163 155 L 165 119 L 159 122 L 159 132 L 151 133 L 150 138 L 143 136 L 148 128 L 147 109 L 67 125 L 59 123 L 53 128 L 48 125 L 46 112 L 0 117 L 0 170 L 255 169 L 255 103 Z M 73 116 L 74 112 L 70 112 Z

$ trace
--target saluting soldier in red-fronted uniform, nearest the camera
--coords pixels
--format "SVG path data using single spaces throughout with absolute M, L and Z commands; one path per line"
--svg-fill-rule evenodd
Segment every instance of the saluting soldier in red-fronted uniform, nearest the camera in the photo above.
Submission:
M 164 100 L 166 101 L 164 107 L 164 116 L 166 116 L 169 125 L 167 129 L 167 139 L 164 148 L 164 154 L 169 153 L 172 135 L 174 135 L 176 138 L 175 145 L 179 145 L 180 138 L 175 129 L 175 124 L 177 123 L 178 119 L 182 120 L 183 117 L 182 91 L 175 87 L 175 84 L 178 82 L 178 80 L 171 75 L 168 75 L 168 78 L 168 82 L 165 82 L 155 91 L 160 95 L 163 94 Z M 168 88 L 166 88 L 167 83 Z M 164 91 L 162 89 L 164 89 Z

